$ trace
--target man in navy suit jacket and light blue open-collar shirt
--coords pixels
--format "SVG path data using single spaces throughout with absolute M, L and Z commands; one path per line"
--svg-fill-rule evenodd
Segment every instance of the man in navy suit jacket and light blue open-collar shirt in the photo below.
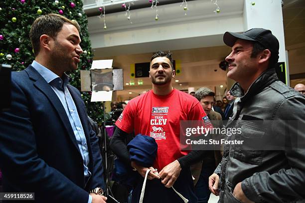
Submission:
M 4 192 L 33 192 L 39 203 L 105 203 L 102 158 L 80 92 L 80 27 L 58 14 L 33 22 L 35 60 L 12 73 L 12 103 L 0 113 Z M 89 192 L 90 191 L 90 192 Z

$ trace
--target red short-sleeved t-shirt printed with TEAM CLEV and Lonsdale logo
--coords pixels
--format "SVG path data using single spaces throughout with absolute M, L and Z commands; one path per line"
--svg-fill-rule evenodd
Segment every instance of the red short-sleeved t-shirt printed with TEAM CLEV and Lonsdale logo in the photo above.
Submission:
M 135 130 L 135 135 L 154 138 L 158 150 L 153 167 L 161 171 L 188 153 L 180 150 L 180 120 L 202 120 L 205 117 L 195 97 L 177 89 L 163 96 L 151 90 L 128 102 L 116 126 L 127 133 Z

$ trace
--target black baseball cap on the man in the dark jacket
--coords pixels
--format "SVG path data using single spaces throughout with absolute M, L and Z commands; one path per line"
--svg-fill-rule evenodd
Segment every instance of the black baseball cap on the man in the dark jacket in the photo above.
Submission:
M 256 41 L 271 52 L 271 63 L 277 63 L 279 60 L 279 40 L 269 29 L 252 28 L 243 33 L 225 32 L 223 42 L 228 46 L 233 46 L 237 39 Z

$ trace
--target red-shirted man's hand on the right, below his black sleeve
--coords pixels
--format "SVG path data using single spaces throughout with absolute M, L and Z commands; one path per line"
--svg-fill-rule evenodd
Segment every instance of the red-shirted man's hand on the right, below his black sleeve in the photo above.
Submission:
M 159 176 L 162 179 L 161 183 L 164 184 L 166 188 L 172 187 L 179 177 L 180 171 L 180 163 L 177 160 L 171 162 L 159 172 Z

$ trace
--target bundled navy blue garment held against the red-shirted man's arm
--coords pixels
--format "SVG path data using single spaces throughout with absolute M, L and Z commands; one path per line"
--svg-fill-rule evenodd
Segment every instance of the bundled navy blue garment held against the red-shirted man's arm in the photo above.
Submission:
M 158 145 L 154 138 L 139 134 L 130 141 L 127 149 L 131 161 L 135 161 L 143 167 L 151 167 L 156 157 Z

